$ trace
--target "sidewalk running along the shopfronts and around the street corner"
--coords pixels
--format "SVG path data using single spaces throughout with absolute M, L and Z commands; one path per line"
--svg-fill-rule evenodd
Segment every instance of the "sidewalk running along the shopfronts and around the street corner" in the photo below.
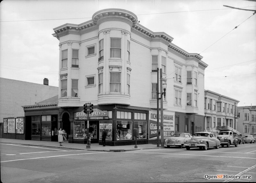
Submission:
M 140 150 L 140 149 L 164 148 L 164 147 L 157 147 L 156 144 L 140 144 L 140 145 L 137 145 L 137 148 L 135 148 L 135 145 L 103 147 L 102 145 L 99 145 L 99 143 L 93 143 L 91 144 L 91 148 L 86 149 L 87 144 L 68 143 L 67 141 L 64 141 L 62 143 L 62 146 L 59 146 L 59 142 L 0 138 L 0 143 L 3 143 L 3 142 L 10 143 L 10 144 L 21 144 L 21 145 L 42 146 L 42 147 L 58 147 L 58 148 L 68 148 L 68 149 L 88 150 L 88 151 L 107 151 L 107 152 L 112 152 L 112 151 L 123 152 L 123 151 L 133 151 L 133 150 Z

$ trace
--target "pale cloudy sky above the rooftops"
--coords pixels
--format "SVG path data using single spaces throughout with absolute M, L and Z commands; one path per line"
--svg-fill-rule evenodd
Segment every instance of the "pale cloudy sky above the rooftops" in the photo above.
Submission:
M 0 3 L 0 77 L 59 86 L 59 40 L 53 28 L 92 20 L 102 9 L 133 12 L 140 25 L 200 53 L 204 89 L 256 105 L 256 10 L 252 0 L 4 0 Z M 237 27 L 237 28 L 235 28 Z M 171 73 L 172 71 L 170 71 Z M 168 75 L 168 72 L 167 72 Z

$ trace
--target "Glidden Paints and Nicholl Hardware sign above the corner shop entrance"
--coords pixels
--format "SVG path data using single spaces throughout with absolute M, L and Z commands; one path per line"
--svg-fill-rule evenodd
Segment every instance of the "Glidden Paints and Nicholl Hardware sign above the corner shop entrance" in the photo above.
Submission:
M 89 114 L 90 120 L 103 120 L 108 119 L 108 111 L 102 111 L 100 109 L 93 109 L 93 113 Z M 76 112 L 75 120 L 87 120 L 87 114 L 84 111 Z

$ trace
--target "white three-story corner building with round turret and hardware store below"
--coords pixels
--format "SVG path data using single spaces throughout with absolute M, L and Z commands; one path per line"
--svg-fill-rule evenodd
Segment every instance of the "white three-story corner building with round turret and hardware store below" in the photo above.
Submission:
M 208 65 L 201 55 L 172 44 L 164 32 L 143 27 L 134 13 L 123 9 L 101 10 L 92 20 L 53 30 L 60 41 L 58 121 L 70 134 L 70 143 L 86 142 L 83 105 L 88 102 L 94 105 L 92 142 L 101 143 L 103 128 L 112 146 L 134 144 L 134 128 L 138 144 L 156 137 L 157 68 L 167 84 L 164 137 L 204 129 Z

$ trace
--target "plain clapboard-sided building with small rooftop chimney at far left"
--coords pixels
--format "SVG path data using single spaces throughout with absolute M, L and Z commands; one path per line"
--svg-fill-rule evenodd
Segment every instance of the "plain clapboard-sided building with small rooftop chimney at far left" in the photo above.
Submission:
M 0 125 L 1 137 L 11 138 L 4 133 L 4 118 L 24 117 L 21 106 L 37 104 L 38 102 L 58 95 L 58 87 L 49 86 L 44 78 L 44 84 L 36 84 L 13 79 L 0 78 Z M 22 137 L 23 139 L 23 137 Z

